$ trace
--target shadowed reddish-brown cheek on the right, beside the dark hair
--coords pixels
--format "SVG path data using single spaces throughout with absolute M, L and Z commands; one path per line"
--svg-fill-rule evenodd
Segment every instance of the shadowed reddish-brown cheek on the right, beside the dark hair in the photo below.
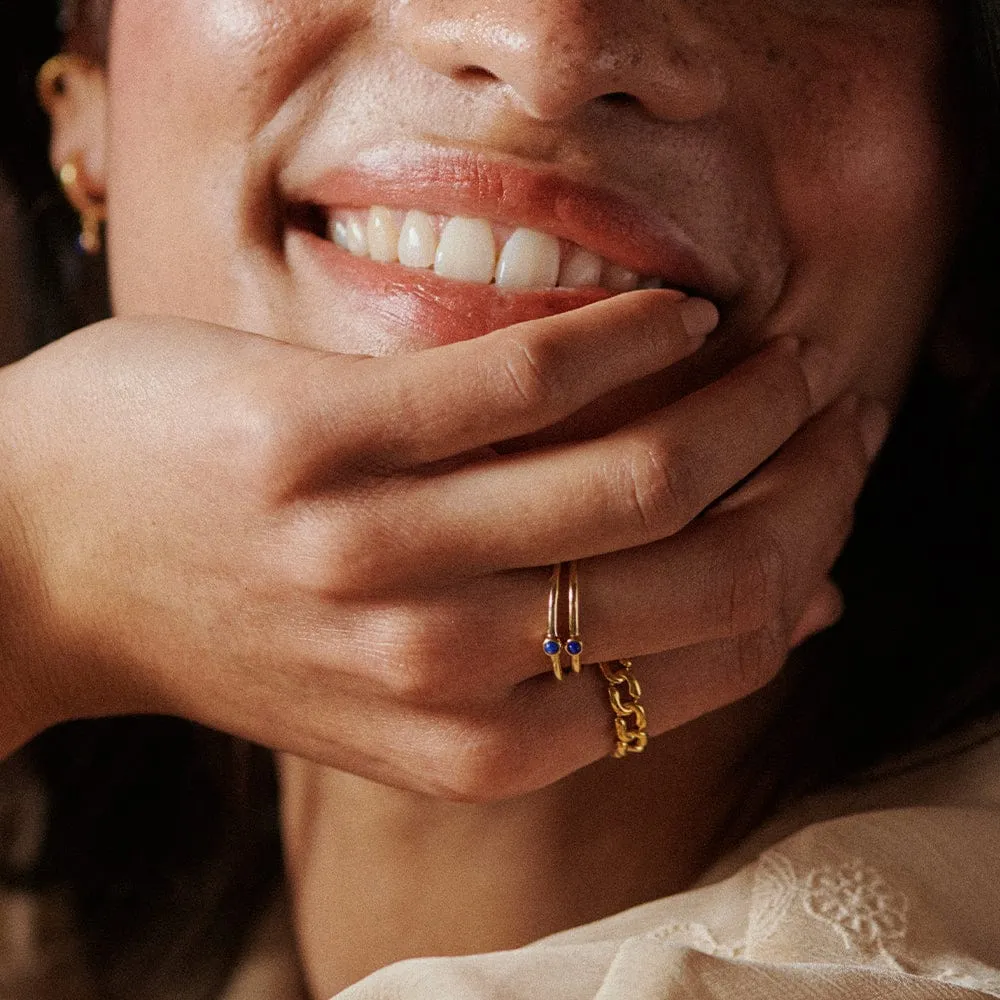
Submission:
M 939 29 L 929 14 L 895 21 L 800 50 L 771 73 L 770 113 L 756 112 L 791 260 L 774 332 L 836 340 L 857 387 L 886 398 L 933 314 L 957 214 Z

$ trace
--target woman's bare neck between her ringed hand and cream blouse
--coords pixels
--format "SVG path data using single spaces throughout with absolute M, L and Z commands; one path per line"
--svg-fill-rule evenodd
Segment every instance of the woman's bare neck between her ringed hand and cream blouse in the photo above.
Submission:
M 518 947 L 687 888 L 760 782 L 751 699 L 505 802 L 443 802 L 281 760 L 295 923 L 314 997 L 420 955 Z M 751 787 L 752 785 L 752 787 Z

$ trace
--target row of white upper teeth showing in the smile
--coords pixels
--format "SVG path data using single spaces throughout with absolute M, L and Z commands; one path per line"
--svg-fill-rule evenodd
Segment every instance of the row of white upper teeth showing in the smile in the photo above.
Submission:
M 430 269 L 444 278 L 501 288 L 662 288 L 583 247 L 535 229 L 513 229 L 462 216 L 401 212 L 376 205 L 330 214 L 329 237 L 358 257 Z M 499 253 L 497 247 L 500 247 Z

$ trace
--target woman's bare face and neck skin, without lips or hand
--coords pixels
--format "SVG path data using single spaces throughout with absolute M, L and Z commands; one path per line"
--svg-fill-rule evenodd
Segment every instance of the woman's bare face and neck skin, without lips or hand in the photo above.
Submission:
M 555 166 L 656 206 L 732 276 L 709 345 L 596 408 L 591 430 L 782 335 L 824 341 L 854 388 L 891 400 L 955 241 L 942 61 L 930 0 L 117 0 L 116 307 L 335 351 L 407 349 L 405 309 L 290 263 L 277 179 L 416 141 Z M 595 765 L 488 809 L 284 760 L 314 994 L 689 884 L 766 714 L 737 706 L 629 767 Z M 588 873 L 609 859 L 619 877 L 595 891 Z

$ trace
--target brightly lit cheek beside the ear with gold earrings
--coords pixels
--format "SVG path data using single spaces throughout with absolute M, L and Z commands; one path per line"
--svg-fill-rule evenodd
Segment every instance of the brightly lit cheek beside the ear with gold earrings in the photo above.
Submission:
M 116 0 L 108 241 L 116 311 L 259 328 L 239 253 L 268 224 L 268 125 L 349 23 L 336 0 Z

